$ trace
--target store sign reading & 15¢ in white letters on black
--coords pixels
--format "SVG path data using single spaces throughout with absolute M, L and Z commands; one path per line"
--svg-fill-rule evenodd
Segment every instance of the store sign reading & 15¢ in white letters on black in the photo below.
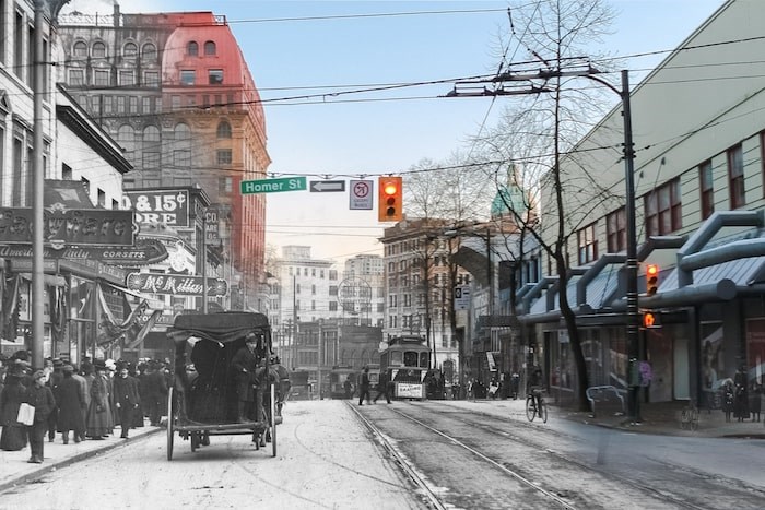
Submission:
M 126 191 L 122 209 L 136 211 L 136 222 L 189 226 L 188 190 Z

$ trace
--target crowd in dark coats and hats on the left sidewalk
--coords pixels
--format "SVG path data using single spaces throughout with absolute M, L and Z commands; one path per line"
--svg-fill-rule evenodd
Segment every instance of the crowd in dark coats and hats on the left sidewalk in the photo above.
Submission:
M 20 451 L 30 446 L 31 463 L 42 463 L 44 446 L 57 440 L 69 444 L 103 440 L 119 427 L 160 426 L 167 406 L 170 371 L 166 361 L 133 364 L 126 360 L 84 358 L 78 366 L 48 358 L 32 370 L 27 351 L 0 357 L 0 449 Z M 24 405 L 25 404 L 25 405 Z M 32 419 L 20 422 L 20 408 L 34 407 Z

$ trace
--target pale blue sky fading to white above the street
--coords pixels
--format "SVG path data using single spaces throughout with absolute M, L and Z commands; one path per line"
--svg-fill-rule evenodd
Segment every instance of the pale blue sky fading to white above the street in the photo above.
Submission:
M 496 72 L 509 31 L 507 7 L 528 1 L 129 0 L 120 10 L 226 16 L 264 100 L 270 176 L 376 181 L 426 159 L 444 162 L 456 151 L 469 152 L 470 138 L 497 123 L 502 102 L 511 96 L 496 102 L 439 96 L 457 79 Z M 632 56 L 675 48 L 725 1 L 610 3 L 617 12 L 613 34 L 596 49 Z M 62 13 L 73 10 L 110 14 L 113 2 L 72 0 Z M 625 59 L 631 84 L 663 55 Z M 444 82 L 357 93 L 438 81 Z M 331 95 L 349 91 L 356 92 Z M 378 223 L 376 210 L 350 210 L 348 192 L 270 193 L 267 200 L 267 242 L 278 249 L 311 246 L 314 258 L 382 254 L 378 239 L 392 226 Z

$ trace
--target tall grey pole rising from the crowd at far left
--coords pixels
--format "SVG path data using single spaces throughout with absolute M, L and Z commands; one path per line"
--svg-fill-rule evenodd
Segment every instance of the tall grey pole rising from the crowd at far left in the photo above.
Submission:
M 69 0 L 35 0 L 34 33 L 34 165 L 32 171 L 32 367 L 43 368 L 45 335 L 45 257 L 44 257 L 44 194 L 45 194 L 45 138 L 43 133 L 43 95 L 48 93 L 46 82 L 49 59 L 44 52 L 44 24 L 52 25 L 61 8 Z M 51 35 L 52 32 L 48 31 Z M 50 45 L 48 46 L 50 47 Z

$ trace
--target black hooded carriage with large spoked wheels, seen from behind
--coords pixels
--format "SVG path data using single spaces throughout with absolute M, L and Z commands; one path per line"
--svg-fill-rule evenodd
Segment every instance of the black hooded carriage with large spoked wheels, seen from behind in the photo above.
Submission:
M 257 449 L 270 441 L 275 456 L 289 375 L 273 364 L 268 318 L 249 312 L 183 315 L 167 336 L 175 342 L 167 460 L 173 459 L 176 431 L 191 441 L 191 451 L 209 444 L 210 436 L 251 435 Z M 193 370 L 188 370 L 191 365 Z

